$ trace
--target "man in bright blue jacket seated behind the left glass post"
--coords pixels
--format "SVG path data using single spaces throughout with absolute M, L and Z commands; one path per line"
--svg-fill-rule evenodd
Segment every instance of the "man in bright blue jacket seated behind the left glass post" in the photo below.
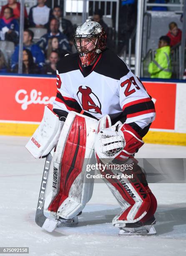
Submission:
M 33 44 L 32 40 L 34 37 L 33 31 L 25 29 L 23 33 L 23 49 L 28 49 L 33 55 L 34 62 L 38 67 L 43 67 L 45 63 L 45 56 L 37 44 Z M 19 46 L 15 47 L 15 51 L 11 58 L 11 68 L 13 69 L 18 64 L 19 58 Z

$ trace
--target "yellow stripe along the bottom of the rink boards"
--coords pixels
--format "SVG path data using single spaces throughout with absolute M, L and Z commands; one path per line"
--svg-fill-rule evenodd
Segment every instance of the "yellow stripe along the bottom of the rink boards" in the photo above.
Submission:
M 38 124 L 0 123 L 0 135 L 32 136 Z M 149 131 L 143 138 L 145 143 L 186 146 L 186 133 Z

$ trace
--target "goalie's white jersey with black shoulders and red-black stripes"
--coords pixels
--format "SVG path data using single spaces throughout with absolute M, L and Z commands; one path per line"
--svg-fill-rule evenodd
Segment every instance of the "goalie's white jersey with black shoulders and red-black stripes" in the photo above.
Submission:
M 70 110 L 100 119 L 123 118 L 142 129 L 155 118 L 155 108 L 141 81 L 111 50 L 99 54 L 93 66 L 83 68 L 78 54 L 65 56 L 57 66 L 54 110 Z

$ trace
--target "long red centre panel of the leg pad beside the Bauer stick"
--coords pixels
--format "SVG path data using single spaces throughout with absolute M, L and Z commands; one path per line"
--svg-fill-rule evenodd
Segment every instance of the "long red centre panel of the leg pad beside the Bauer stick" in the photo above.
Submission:
M 62 202 L 68 197 L 70 187 L 80 174 L 86 149 L 85 119 L 76 115 L 68 134 L 61 161 L 60 189 L 50 203 L 48 210 L 57 212 Z

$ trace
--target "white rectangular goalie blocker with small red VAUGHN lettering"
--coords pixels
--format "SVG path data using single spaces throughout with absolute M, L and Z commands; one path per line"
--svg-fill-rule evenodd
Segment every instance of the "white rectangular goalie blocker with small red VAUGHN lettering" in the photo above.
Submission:
M 35 158 L 46 156 L 57 145 L 63 124 L 58 115 L 45 106 L 43 119 L 25 147 Z

